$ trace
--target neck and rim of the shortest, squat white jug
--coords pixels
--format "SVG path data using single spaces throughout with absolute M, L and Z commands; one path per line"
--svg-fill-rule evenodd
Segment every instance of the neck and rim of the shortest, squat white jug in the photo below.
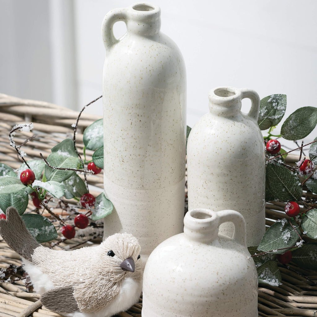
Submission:
M 184 234 L 191 241 L 211 243 L 217 239 L 219 219 L 209 209 L 193 209 L 184 217 Z

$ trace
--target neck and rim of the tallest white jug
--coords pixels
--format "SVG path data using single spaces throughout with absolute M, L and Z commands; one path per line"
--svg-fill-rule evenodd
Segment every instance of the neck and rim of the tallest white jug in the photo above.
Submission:
M 128 8 L 127 31 L 140 36 L 153 36 L 161 28 L 161 9 L 148 3 L 135 3 Z

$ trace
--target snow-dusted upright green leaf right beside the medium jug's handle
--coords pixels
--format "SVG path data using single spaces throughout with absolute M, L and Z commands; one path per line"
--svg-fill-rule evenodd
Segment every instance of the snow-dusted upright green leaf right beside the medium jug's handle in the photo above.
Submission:
M 286 110 L 286 95 L 273 94 L 261 99 L 258 125 L 261 130 L 276 126 Z

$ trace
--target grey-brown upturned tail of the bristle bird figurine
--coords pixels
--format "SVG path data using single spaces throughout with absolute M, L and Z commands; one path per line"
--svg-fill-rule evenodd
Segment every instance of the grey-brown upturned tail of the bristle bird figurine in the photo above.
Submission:
M 40 246 L 13 207 L 7 208 L 6 219 L 0 219 L 0 235 L 11 249 L 29 261 L 32 261 L 34 249 Z

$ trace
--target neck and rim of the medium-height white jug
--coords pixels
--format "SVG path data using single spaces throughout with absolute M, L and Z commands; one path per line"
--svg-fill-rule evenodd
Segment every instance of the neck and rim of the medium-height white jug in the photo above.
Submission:
M 242 92 L 234 87 L 217 87 L 209 92 L 209 110 L 218 116 L 232 117 L 241 110 Z

